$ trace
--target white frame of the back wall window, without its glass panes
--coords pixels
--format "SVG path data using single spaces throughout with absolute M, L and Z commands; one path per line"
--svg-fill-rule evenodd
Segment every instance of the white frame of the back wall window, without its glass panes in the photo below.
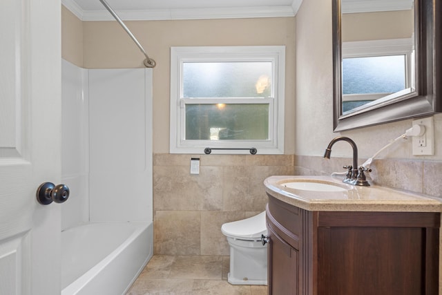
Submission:
M 189 61 L 271 61 L 273 63 L 273 96 L 250 98 L 184 98 L 182 65 Z M 229 103 L 269 104 L 269 140 L 186 140 L 185 105 Z M 212 154 L 244 154 L 257 149 L 257 154 L 284 153 L 285 46 L 191 46 L 171 47 L 171 117 L 170 153 L 201 154 L 213 148 Z M 230 150 L 217 150 L 230 149 Z M 246 150 L 235 150 L 246 149 Z

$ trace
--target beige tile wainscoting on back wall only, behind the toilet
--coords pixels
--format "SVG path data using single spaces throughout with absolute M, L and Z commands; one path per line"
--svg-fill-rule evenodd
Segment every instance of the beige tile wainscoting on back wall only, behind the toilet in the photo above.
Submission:
M 200 174 L 190 174 L 200 158 Z M 153 158 L 155 254 L 229 255 L 224 222 L 265 210 L 262 182 L 293 175 L 293 155 L 171 155 Z

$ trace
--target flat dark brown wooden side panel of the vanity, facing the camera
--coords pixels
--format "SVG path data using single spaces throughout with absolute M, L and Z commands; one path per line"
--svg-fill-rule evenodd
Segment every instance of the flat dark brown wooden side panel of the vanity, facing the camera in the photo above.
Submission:
M 438 294 L 439 213 L 319 212 L 318 294 Z

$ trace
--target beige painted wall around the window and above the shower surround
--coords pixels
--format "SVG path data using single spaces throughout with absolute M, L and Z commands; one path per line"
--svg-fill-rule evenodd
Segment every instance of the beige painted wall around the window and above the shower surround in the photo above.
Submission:
M 286 46 L 285 153 L 294 153 L 294 18 L 127 21 L 149 57 L 153 70 L 154 153 L 169 153 L 171 46 Z M 85 68 L 142 67 L 144 55 L 115 21 L 87 21 Z

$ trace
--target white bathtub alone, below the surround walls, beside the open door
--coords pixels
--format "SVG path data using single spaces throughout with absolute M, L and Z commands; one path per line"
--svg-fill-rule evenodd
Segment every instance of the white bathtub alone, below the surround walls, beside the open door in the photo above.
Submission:
M 121 295 L 153 255 L 148 222 L 91 222 L 61 232 L 61 295 Z

